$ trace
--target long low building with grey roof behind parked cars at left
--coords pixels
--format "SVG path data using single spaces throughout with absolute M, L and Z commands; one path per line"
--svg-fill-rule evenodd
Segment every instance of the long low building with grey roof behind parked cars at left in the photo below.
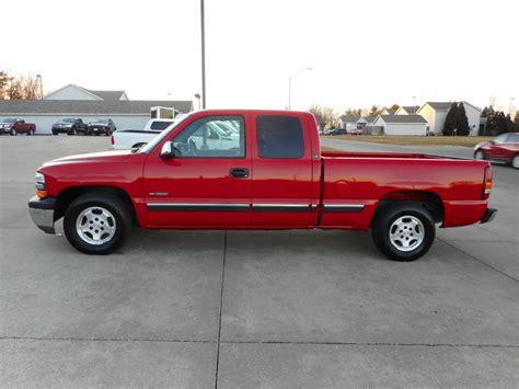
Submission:
M 112 118 L 118 129 L 142 129 L 153 106 L 173 107 L 180 113 L 193 111 L 193 101 L 128 100 L 125 91 L 93 91 L 67 85 L 47 94 L 44 100 L 0 101 L 0 121 L 22 117 L 36 124 L 36 134 L 50 134 L 62 117 L 80 117 L 89 123 Z

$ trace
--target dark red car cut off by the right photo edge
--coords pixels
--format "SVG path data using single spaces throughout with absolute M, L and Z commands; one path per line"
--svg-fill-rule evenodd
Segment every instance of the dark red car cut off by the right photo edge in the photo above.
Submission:
M 519 133 L 501 134 L 474 147 L 474 159 L 510 163 L 519 169 Z

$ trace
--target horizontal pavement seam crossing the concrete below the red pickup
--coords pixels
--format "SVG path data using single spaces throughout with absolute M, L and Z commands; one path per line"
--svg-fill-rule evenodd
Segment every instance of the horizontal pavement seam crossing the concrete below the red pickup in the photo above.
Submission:
M 201 343 L 218 344 L 217 341 L 177 340 L 177 339 L 125 339 L 125 337 L 38 337 L 38 336 L 2 336 L 0 341 L 43 341 L 43 342 L 149 342 L 149 343 Z M 343 345 L 343 346 L 403 346 L 403 347 L 495 347 L 519 348 L 514 344 L 477 344 L 477 343 L 399 343 L 399 342 L 312 342 L 312 341 L 220 341 L 220 344 L 285 344 L 285 345 Z

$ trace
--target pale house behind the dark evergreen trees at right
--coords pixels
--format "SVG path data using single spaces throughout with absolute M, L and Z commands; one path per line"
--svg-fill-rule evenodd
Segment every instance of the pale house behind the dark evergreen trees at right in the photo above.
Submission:
M 480 130 L 481 110 L 468 102 L 462 102 L 469 121 L 470 135 L 475 136 Z M 427 102 L 417 111 L 429 123 L 429 130 L 441 135 L 447 114 L 452 102 Z

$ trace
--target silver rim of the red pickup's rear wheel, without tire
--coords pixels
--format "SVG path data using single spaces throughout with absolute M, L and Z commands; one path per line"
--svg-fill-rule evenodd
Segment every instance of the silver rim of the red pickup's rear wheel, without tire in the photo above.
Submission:
M 417 217 L 402 216 L 393 221 L 389 234 L 390 242 L 396 250 L 413 251 L 424 242 L 424 224 Z

